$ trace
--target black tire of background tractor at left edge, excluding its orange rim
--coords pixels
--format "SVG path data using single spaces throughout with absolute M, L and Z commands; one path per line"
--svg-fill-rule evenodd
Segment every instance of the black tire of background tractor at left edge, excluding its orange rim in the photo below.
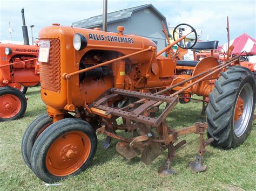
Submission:
M 15 89 L 12 87 L 1 87 L 0 88 L 0 96 L 6 95 L 6 94 L 15 95 L 16 97 L 18 97 L 18 99 L 21 101 L 21 109 L 19 110 L 18 114 L 15 115 L 14 117 L 10 117 L 10 118 L 1 118 L 0 117 L 0 122 L 1 121 L 11 121 L 14 119 L 21 118 L 24 115 L 24 113 L 26 111 L 26 107 L 27 107 L 26 97 L 18 89 Z

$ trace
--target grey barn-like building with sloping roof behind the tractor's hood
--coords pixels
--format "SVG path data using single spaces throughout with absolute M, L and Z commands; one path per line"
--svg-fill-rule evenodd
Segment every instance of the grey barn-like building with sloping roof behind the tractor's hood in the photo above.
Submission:
M 166 37 L 162 31 L 161 22 L 164 22 L 169 33 L 166 18 L 152 4 L 107 13 L 107 31 L 117 32 L 117 26 L 124 26 L 124 33 L 149 38 L 157 44 L 158 50 L 166 46 Z M 74 22 L 72 26 L 102 29 L 102 23 L 103 15 L 99 15 Z M 169 37 L 171 37 L 170 33 Z

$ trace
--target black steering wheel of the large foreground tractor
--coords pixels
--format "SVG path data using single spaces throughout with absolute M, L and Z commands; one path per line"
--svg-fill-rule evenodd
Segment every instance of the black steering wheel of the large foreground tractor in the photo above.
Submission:
M 191 49 L 194 45 L 196 45 L 197 43 L 197 32 L 196 29 L 194 29 L 191 25 L 185 24 L 185 23 L 181 23 L 179 25 L 177 25 L 174 29 L 173 29 L 173 40 L 176 41 L 175 38 L 175 33 L 178 34 L 178 37 L 182 37 L 182 36 L 188 36 L 188 34 L 194 34 L 194 44 L 192 44 L 191 46 L 187 47 L 186 46 L 186 42 L 185 42 L 185 38 L 183 40 L 180 40 L 177 43 L 177 46 L 179 46 L 180 48 L 183 49 Z M 185 34 L 184 34 L 185 33 Z

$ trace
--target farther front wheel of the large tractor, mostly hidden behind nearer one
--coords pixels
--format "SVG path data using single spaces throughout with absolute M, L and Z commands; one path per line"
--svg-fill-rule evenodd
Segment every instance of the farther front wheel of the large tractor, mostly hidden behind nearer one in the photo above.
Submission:
M 65 118 L 72 118 L 70 114 L 66 114 Z M 41 133 L 52 124 L 52 118 L 48 114 L 38 116 L 30 123 L 22 138 L 22 157 L 26 165 L 31 168 L 31 151 L 32 147 Z

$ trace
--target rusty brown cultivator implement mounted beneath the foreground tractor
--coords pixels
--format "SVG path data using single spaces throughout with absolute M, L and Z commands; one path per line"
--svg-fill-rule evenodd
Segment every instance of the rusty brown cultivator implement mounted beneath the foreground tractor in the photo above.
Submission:
M 123 108 L 106 106 L 117 96 L 123 98 L 135 97 L 143 99 L 144 101 L 130 103 Z M 154 106 L 158 102 L 165 103 L 166 107 L 161 111 L 161 114 L 158 117 L 153 117 L 158 111 L 158 107 Z M 201 138 L 199 155 L 197 158 L 200 160 L 197 160 L 191 165 L 191 171 L 204 171 L 206 166 L 202 164 L 202 156 L 205 152 L 205 146 L 212 142 L 213 139 L 209 139 L 206 143 L 202 137 L 205 129 L 207 129 L 206 123 L 199 122 L 193 126 L 180 130 L 174 130 L 167 126 L 165 118 L 177 103 L 178 97 L 111 88 L 91 104 L 91 109 L 93 111 L 95 111 L 95 109 L 104 111 L 106 118 L 109 118 L 108 121 L 105 118 L 103 121 L 104 125 L 97 130 L 98 133 L 103 133 L 107 136 L 103 147 L 106 148 L 110 146 L 111 138 L 119 139 L 120 142 L 116 145 L 116 150 L 126 159 L 132 159 L 141 154 L 142 161 L 146 165 L 149 165 L 167 148 L 168 159 L 166 164 L 159 168 L 159 175 L 174 173 L 170 168 L 171 160 L 174 158 L 174 152 L 178 150 L 179 147 L 186 144 L 185 140 L 181 140 L 181 142 L 173 145 L 178 141 L 178 137 L 192 132 L 199 133 Z M 122 125 L 114 123 L 118 117 L 122 117 Z M 133 132 L 133 137 L 125 138 L 116 135 L 115 131 L 118 129 Z

